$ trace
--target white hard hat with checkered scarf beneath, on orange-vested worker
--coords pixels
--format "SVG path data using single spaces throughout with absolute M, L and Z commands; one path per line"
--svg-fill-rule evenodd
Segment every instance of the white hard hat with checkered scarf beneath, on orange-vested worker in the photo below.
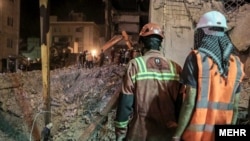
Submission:
M 229 58 L 234 50 L 225 34 L 227 28 L 226 17 L 222 13 L 209 11 L 201 16 L 194 35 L 194 48 L 210 57 L 223 77 L 227 77 Z

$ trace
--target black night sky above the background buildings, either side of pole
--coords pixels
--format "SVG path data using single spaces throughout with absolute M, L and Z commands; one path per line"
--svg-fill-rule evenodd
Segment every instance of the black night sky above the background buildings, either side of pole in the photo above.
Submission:
M 70 11 L 83 12 L 87 21 L 104 24 L 102 0 L 50 0 L 50 15 L 64 19 Z M 21 0 L 20 38 L 40 37 L 39 0 Z

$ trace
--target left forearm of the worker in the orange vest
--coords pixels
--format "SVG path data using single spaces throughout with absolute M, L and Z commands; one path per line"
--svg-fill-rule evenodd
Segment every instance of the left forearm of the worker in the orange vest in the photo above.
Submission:
M 181 136 L 191 119 L 192 112 L 195 106 L 195 99 L 196 99 L 196 89 L 191 86 L 187 86 L 186 97 L 184 99 L 181 108 L 181 113 L 178 120 L 178 127 L 174 134 L 173 140 L 179 141 L 181 139 Z

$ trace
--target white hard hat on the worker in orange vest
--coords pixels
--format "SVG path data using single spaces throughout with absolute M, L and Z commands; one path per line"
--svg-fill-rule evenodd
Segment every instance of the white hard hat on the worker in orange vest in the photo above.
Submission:
M 196 29 L 204 27 L 222 27 L 227 29 L 227 20 L 225 16 L 218 11 L 210 11 L 201 16 Z

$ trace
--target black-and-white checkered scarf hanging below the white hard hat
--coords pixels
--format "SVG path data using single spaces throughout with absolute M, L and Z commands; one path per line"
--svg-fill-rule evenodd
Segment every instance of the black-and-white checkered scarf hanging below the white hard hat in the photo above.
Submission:
M 195 49 L 210 57 L 218 66 L 218 71 L 223 77 L 227 77 L 229 57 L 234 50 L 229 37 L 206 35 L 202 29 L 195 32 Z

